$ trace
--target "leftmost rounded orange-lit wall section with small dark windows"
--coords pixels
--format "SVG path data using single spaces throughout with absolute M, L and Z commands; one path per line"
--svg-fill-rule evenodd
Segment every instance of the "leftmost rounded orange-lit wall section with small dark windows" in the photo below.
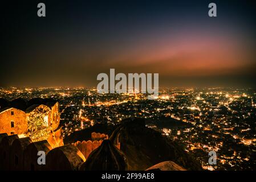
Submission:
M 13 115 L 12 115 L 13 112 Z M 14 122 L 14 127 L 11 126 Z M 27 130 L 26 113 L 22 110 L 10 108 L 0 113 L 0 133 L 24 134 Z

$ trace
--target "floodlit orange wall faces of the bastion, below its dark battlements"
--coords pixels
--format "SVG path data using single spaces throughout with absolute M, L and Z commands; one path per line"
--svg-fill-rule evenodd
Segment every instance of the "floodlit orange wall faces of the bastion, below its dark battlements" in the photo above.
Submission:
M 42 113 L 43 108 L 44 110 L 47 110 L 48 108 L 48 112 L 45 113 L 46 114 L 45 116 L 43 115 L 44 113 Z M 12 112 L 13 112 L 13 115 L 12 115 Z M 36 115 L 38 115 L 38 117 L 40 118 L 42 118 L 42 115 L 43 115 L 42 122 L 45 122 L 44 118 L 48 116 L 47 117 L 48 119 L 47 133 L 45 133 L 45 136 L 40 135 L 41 138 L 39 139 L 31 136 L 30 133 L 28 133 L 29 121 L 33 117 L 36 117 Z M 13 123 L 14 127 L 11 126 L 11 122 L 14 122 Z M 44 140 L 44 139 L 49 140 L 52 147 L 63 146 L 62 129 L 58 128 L 59 123 L 60 123 L 60 113 L 59 113 L 58 102 L 56 102 L 56 104 L 51 108 L 46 105 L 39 105 L 35 107 L 34 110 L 29 111 L 29 113 L 25 113 L 22 110 L 15 109 L 15 108 L 10 108 L 0 113 L 0 133 L 7 133 L 7 135 L 23 134 L 23 135 L 26 135 L 27 137 L 30 137 L 33 142 L 36 142 L 38 140 Z M 39 134 L 41 133 L 39 132 Z M 36 133 L 34 133 L 34 135 L 36 135 Z

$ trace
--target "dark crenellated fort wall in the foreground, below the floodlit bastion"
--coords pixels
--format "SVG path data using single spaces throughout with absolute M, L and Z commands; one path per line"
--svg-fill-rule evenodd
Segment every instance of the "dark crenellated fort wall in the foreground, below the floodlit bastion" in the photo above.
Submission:
M 0 134 L 0 170 L 79 170 L 88 156 L 108 135 L 92 133 L 92 140 L 52 147 L 47 140 L 32 142 L 29 137 Z M 46 154 L 46 165 L 39 165 L 38 151 Z

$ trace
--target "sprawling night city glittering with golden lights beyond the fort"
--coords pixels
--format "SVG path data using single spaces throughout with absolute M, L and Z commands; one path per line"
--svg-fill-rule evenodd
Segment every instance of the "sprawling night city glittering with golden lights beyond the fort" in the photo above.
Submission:
M 0 98 L 59 102 L 63 138 L 96 123 L 144 118 L 147 127 L 177 141 L 207 170 L 255 170 L 256 91 L 238 88 L 161 88 L 147 94 L 99 94 L 90 88 L 1 88 Z M 208 164 L 216 151 L 217 165 Z

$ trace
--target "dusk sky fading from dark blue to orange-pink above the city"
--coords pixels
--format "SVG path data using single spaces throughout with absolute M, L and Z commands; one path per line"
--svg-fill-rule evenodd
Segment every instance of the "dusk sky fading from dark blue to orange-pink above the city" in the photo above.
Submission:
M 0 86 L 96 86 L 110 68 L 159 73 L 160 86 L 254 86 L 255 10 L 244 0 L 1 2 Z

